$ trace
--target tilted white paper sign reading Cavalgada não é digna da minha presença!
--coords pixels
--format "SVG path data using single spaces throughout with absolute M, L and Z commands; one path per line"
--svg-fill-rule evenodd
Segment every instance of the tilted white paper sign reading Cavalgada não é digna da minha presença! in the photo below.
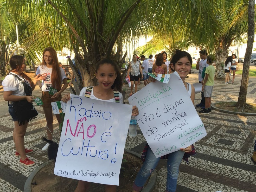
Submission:
M 139 109 L 138 125 L 156 157 L 186 148 L 206 136 L 177 72 L 170 75 L 168 84 L 150 83 L 128 100 Z

